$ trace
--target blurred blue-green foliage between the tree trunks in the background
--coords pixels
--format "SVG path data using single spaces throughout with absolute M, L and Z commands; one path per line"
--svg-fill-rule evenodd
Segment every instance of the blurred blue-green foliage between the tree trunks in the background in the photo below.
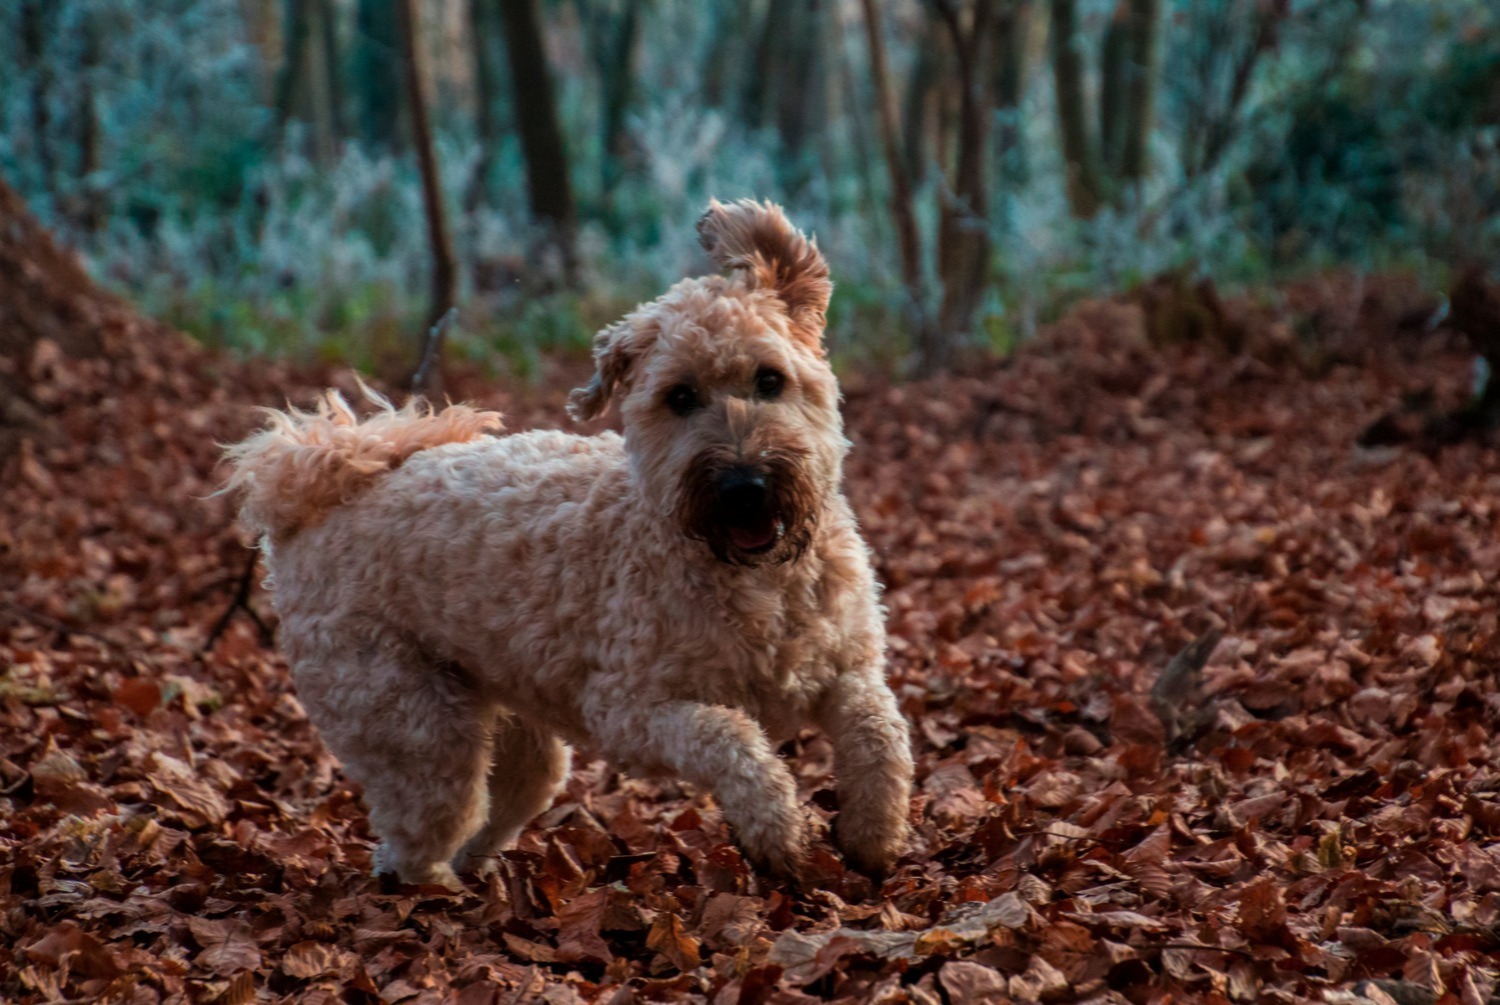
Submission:
M 640 27 L 621 57 L 600 33 L 616 30 L 632 3 Z M 333 118 L 345 126 L 362 122 L 363 76 L 388 68 L 362 30 L 374 6 L 332 4 L 330 80 L 342 81 L 346 105 Z M 1029 6 L 1018 21 L 1030 26 L 1018 102 L 993 112 L 992 135 L 1010 146 L 988 171 L 994 250 L 980 327 L 988 348 L 1006 351 L 1082 292 L 1167 272 L 1212 273 L 1221 286 L 1330 262 L 1442 276 L 1500 252 L 1496 4 L 1293 2 L 1233 105 L 1232 69 L 1274 4 L 1167 3 L 1150 172 L 1084 220 L 1064 195 L 1046 4 Z M 525 372 L 544 351 L 586 346 L 594 326 L 704 266 L 692 224 L 708 196 L 753 195 L 786 204 L 832 260 L 836 357 L 902 364 L 903 292 L 858 4 L 800 14 L 798 30 L 818 45 L 800 45 L 796 58 L 818 69 L 798 78 L 807 87 L 768 90 L 772 0 L 543 3 L 578 194 L 574 291 L 555 280 L 526 219 L 504 72 L 489 110 L 495 138 L 477 138 L 470 3 L 423 9 L 462 264 L 454 352 Z M 885 9 L 902 94 L 918 46 L 940 45 L 942 33 L 926 30 L 930 4 Z M 1089 52 L 1113 9 L 1078 4 Z M 416 164 L 400 142 L 387 150 L 338 135 L 330 148 L 320 140 L 327 123 L 282 128 L 272 106 L 280 12 L 273 0 L 0 4 L 0 172 L 99 276 L 208 342 L 362 363 L 400 356 L 428 282 Z M 486 52 L 502 60 L 501 48 Z M 621 72 L 634 82 L 624 134 L 610 138 L 606 98 Z M 1089 74 L 1096 87 L 1098 66 Z M 1224 153 L 1197 170 L 1196 132 L 1220 120 Z M 940 122 L 906 128 L 918 134 L 916 212 L 930 248 L 946 134 Z

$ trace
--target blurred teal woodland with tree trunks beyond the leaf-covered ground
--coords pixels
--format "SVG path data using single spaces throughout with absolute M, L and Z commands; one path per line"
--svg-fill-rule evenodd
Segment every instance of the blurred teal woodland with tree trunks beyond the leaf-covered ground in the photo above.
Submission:
M 210 345 L 408 370 L 459 303 L 454 351 L 528 374 L 696 267 L 710 196 L 772 198 L 836 264 L 836 356 L 932 372 L 1161 273 L 1492 261 L 1497 33 L 1484 0 L 14 0 L 0 172 Z

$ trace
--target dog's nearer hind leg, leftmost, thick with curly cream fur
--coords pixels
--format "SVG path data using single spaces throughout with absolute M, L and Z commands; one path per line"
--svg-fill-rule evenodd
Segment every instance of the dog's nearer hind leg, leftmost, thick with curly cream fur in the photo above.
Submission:
M 364 788 L 375 872 L 458 886 L 448 862 L 488 813 L 494 706 L 402 645 L 298 660 L 296 678 L 324 742 Z

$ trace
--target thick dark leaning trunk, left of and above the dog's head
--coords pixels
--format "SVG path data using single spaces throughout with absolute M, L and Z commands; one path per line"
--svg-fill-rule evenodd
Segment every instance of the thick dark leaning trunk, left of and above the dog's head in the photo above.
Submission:
M 564 279 L 572 282 L 573 186 L 568 182 L 567 150 L 558 126 L 537 0 L 504 0 L 500 14 L 516 96 L 520 150 L 526 162 L 531 216 L 546 228 L 548 243 L 561 252 Z

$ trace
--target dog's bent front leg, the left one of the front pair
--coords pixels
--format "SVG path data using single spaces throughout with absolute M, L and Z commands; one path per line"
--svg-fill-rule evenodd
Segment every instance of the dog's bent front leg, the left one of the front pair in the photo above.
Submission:
M 638 696 L 600 705 L 596 736 L 606 754 L 711 789 L 750 861 L 796 878 L 807 850 L 796 783 L 753 718 L 723 705 L 644 704 Z

